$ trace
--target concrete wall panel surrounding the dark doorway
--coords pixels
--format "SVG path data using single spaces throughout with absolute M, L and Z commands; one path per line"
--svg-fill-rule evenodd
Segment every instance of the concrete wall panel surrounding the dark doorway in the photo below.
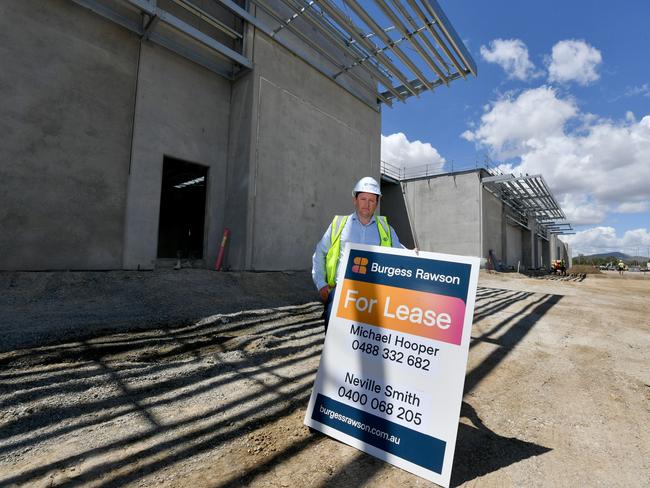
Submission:
M 142 43 L 129 175 L 126 269 L 151 269 L 158 246 L 163 157 L 208 167 L 204 260 L 223 229 L 230 82 L 169 50 Z

